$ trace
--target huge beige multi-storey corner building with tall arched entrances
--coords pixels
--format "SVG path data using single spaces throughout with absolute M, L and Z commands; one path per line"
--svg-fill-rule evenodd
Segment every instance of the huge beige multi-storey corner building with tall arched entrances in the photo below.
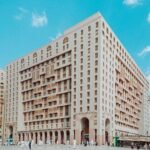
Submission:
M 102 15 L 7 66 L 5 139 L 145 135 L 149 84 Z

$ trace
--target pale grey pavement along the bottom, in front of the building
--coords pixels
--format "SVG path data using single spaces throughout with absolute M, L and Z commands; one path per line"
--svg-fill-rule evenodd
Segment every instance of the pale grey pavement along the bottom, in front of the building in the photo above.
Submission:
M 29 150 L 28 146 L 3 146 L 0 150 Z M 77 145 L 33 145 L 32 150 L 131 150 L 130 148 Z

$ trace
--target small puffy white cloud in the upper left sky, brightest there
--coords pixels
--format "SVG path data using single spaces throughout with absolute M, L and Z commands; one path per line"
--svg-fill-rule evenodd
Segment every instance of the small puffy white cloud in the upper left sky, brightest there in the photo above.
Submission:
M 32 26 L 33 27 L 43 27 L 48 24 L 48 18 L 45 12 L 38 14 L 32 13 Z

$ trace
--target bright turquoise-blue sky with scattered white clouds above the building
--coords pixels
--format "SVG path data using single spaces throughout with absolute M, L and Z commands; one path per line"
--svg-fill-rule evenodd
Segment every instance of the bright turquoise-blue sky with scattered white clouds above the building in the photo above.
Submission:
M 0 0 L 0 68 L 98 11 L 150 79 L 150 0 Z

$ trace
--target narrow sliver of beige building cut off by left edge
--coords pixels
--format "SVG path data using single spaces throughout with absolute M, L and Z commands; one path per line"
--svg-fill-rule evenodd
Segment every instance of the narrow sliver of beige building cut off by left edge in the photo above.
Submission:
M 2 140 L 2 127 L 4 115 L 4 97 L 5 97 L 5 72 L 0 70 L 0 140 Z

